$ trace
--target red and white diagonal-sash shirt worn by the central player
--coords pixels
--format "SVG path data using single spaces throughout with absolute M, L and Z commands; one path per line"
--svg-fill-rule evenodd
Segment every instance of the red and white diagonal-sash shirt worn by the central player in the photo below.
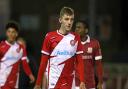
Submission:
M 75 89 L 75 57 L 83 53 L 79 35 L 72 32 L 62 35 L 58 30 L 49 32 L 41 52 L 49 56 L 48 89 Z M 82 56 L 77 61 L 82 62 Z M 42 74 L 39 75 L 37 84 L 40 84 L 39 79 L 42 78 Z

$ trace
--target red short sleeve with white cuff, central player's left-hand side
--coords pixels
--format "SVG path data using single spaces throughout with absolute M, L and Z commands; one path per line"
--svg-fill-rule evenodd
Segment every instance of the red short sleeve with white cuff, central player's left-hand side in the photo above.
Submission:
M 50 39 L 49 34 L 45 36 L 44 42 L 42 44 L 42 50 L 41 53 L 45 55 L 50 55 Z

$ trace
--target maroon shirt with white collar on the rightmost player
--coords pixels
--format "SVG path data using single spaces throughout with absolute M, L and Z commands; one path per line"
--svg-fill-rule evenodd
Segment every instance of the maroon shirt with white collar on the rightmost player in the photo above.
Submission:
M 96 65 L 96 73 L 98 79 L 102 81 L 102 66 L 99 65 L 101 63 L 102 55 L 99 42 L 96 39 L 92 39 L 87 36 L 87 40 L 85 42 L 81 42 L 83 45 L 83 56 L 84 60 L 84 74 L 85 74 L 85 84 L 87 89 L 95 89 L 95 66 Z M 79 76 L 76 74 L 76 76 Z M 79 79 L 76 78 L 76 85 L 79 85 Z

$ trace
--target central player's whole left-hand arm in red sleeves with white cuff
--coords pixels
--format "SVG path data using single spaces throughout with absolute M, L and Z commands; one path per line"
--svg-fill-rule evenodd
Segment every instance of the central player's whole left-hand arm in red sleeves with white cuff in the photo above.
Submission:
M 43 55 L 41 56 L 41 63 L 38 71 L 38 76 L 36 80 L 36 85 L 34 89 L 41 89 L 41 82 L 42 82 L 42 76 L 44 75 L 44 72 L 47 67 L 49 55 L 50 55 L 50 40 L 49 40 L 49 35 L 47 34 L 43 46 L 42 46 L 42 51 Z

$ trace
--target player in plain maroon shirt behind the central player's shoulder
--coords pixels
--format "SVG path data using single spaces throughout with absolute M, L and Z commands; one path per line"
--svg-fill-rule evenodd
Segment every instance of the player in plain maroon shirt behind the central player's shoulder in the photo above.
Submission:
M 95 65 L 96 75 L 98 77 L 98 89 L 102 89 L 103 83 L 103 69 L 102 69 L 102 55 L 98 40 L 90 38 L 88 35 L 88 24 L 85 21 L 78 21 L 75 23 L 75 32 L 80 34 L 81 43 L 83 45 L 84 53 L 84 73 L 85 83 L 87 89 L 96 89 L 95 85 Z M 79 73 L 76 74 L 76 84 L 79 84 Z

